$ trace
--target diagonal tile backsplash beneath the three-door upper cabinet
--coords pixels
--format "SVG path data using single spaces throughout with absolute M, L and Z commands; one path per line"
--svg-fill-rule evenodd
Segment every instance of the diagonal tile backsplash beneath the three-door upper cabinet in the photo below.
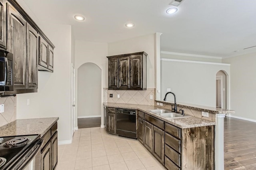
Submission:
M 135 105 L 154 105 L 155 89 L 147 90 L 108 90 L 103 89 L 104 101 L 110 103 L 126 103 Z M 110 97 L 113 94 L 113 97 Z M 120 96 L 118 98 L 118 95 Z M 152 95 L 152 99 L 150 99 Z

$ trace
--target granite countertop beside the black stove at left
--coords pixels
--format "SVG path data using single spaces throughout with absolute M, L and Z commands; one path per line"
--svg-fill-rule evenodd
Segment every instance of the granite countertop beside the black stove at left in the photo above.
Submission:
M 18 119 L 0 127 L 0 136 L 40 134 L 42 137 L 58 120 L 58 117 Z

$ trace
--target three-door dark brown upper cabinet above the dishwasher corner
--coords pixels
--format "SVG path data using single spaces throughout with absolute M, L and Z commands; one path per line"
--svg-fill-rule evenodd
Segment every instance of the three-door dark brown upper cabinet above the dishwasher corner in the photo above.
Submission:
M 108 56 L 109 90 L 146 90 L 147 53 Z

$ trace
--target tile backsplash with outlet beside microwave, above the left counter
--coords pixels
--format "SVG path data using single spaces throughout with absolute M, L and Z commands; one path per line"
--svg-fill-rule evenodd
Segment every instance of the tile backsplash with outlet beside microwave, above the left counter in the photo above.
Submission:
M 0 104 L 4 104 L 4 112 L 0 113 L 0 127 L 16 120 L 16 96 L 0 97 Z

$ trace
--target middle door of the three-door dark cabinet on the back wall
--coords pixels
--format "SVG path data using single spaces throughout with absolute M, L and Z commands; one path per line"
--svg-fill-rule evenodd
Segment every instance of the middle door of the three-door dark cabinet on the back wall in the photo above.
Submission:
M 119 65 L 119 88 L 128 89 L 130 87 L 130 57 L 120 57 Z

